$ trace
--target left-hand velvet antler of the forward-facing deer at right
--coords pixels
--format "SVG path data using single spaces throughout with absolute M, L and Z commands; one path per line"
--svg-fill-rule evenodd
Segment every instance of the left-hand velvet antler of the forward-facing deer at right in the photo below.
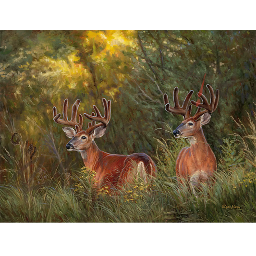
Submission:
M 184 102 L 183 102 L 183 105 L 182 107 L 180 106 L 179 104 L 179 97 L 178 97 L 178 94 L 179 94 L 179 88 L 178 87 L 175 87 L 174 90 L 173 90 L 173 101 L 174 101 L 174 107 L 171 108 L 170 107 L 170 103 L 169 103 L 169 99 L 168 99 L 168 95 L 165 94 L 164 95 L 164 103 L 165 103 L 165 110 L 170 112 L 170 113 L 173 113 L 173 114 L 179 114 L 179 115 L 182 115 L 184 117 L 184 120 L 185 119 L 188 119 L 190 117 L 190 114 L 191 114 L 191 108 L 192 106 L 190 105 L 187 109 L 187 106 L 188 106 L 188 103 L 193 95 L 194 91 L 191 90 L 187 97 L 185 98 Z

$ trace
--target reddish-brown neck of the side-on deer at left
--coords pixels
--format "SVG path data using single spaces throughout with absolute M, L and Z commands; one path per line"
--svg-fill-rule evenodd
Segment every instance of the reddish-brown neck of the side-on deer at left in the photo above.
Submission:
M 96 143 L 93 141 L 92 145 L 86 151 L 81 152 L 81 156 L 83 158 L 85 166 L 93 171 L 96 171 L 95 165 L 100 159 L 101 153 L 102 151 L 98 148 Z

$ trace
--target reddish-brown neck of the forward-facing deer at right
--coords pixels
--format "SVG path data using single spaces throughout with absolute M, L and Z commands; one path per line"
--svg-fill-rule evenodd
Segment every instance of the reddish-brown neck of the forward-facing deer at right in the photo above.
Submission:
M 195 164 L 201 166 L 207 163 L 213 154 L 207 140 L 205 138 L 203 128 L 201 128 L 194 136 L 189 137 L 191 155 Z

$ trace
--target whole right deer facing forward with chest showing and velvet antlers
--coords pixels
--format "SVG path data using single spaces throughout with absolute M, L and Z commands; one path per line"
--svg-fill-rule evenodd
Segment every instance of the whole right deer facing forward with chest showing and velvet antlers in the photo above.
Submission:
M 210 122 L 211 114 L 217 109 L 219 90 L 216 90 L 215 96 L 213 88 L 210 85 L 207 85 L 207 88 L 210 92 L 210 103 L 203 94 L 197 93 L 203 103 L 191 101 L 198 108 L 192 117 L 190 116 L 192 105 L 189 105 L 189 102 L 194 93 L 193 90 L 186 96 L 182 107 L 179 104 L 178 87 L 175 87 L 173 91 L 173 108 L 170 106 L 167 94 L 164 95 L 165 110 L 182 115 L 184 118 L 181 125 L 173 131 L 173 134 L 175 138 L 188 138 L 190 147 L 184 147 L 180 151 L 176 160 L 176 175 L 179 182 L 182 183 L 181 178 L 189 182 L 193 193 L 195 193 L 195 188 L 200 186 L 200 183 L 210 185 L 214 172 L 217 171 L 216 158 L 206 141 L 202 126 Z

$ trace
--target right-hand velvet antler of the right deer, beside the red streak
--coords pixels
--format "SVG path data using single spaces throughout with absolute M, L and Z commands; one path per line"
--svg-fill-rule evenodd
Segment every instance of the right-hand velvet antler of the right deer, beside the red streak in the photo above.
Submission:
M 214 90 L 211 87 L 211 85 L 206 85 L 206 86 L 210 92 L 210 97 L 211 97 L 210 104 L 208 103 L 207 98 L 203 94 L 197 93 L 198 97 L 200 97 L 203 100 L 203 103 L 198 104 L 194 100 L 191 101 L 191 104 L 195 105 L 198 108 L 195 115 L 193 116 L 194 120 L 198 120 L 203 114 L 207 112 L 211 114 L 217 109 L 217 106 L 219 103 L 219 90 L 218 89 L 216 90 L 216 96 L 215 96 Z M 201 111 L 201 108 L 204 108 L 205 110 Z

